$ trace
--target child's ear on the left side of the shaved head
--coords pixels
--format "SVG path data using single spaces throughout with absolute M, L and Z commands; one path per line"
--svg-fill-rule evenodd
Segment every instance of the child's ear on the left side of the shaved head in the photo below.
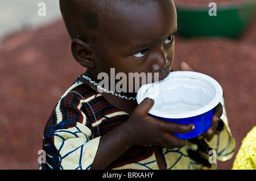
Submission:
M 85 68 L 95 68 L 96 64 L 94 61 L 94 56 L 92 54 L 93 50 L 88 43 L 80 39 L 74 39 L 71 43 L 71 50 L 73 57 L 79 62 L 80 65 Z

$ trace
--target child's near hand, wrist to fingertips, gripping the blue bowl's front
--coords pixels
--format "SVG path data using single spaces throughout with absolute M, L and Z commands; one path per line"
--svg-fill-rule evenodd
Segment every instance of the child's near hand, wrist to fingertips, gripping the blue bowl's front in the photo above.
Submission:
M 135 108 L 126 124 L 132 144 L 137 145 L 161 145 L 169 149 L 181 148 L 186 141 L 177 138 L 172 133 L 187 133 L 195 128 L 195 125 L 176 124 L 148 115 L 148 111 L 154 105 L 154 100 L 144 99 Z

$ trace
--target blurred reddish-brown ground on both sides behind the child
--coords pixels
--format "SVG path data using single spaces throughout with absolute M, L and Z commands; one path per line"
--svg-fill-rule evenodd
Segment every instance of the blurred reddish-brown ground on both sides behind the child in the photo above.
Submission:
M 176 37 L 174 68 L 186 61 L 225 91 L 236 151 L 256 125 L 256 16 L 238 40 Z M 43 129 L 57 100 L 85 71 L 73 59 L 62 20 L 0 44 L 0 169 L 38 169 Z M 218 169 L 231 169 L 235 156 Z

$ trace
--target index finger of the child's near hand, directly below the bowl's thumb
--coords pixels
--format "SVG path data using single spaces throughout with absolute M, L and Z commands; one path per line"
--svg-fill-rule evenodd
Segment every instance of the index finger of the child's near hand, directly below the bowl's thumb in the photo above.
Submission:
M 170 133 L 188 133 L 195 129 L 195 125 L 193 124 L 177 124 L 173 122 L 168 122 L 168 121 L 162 121 L 162 123 L 159 124 L 161 129 L 166 132 Z

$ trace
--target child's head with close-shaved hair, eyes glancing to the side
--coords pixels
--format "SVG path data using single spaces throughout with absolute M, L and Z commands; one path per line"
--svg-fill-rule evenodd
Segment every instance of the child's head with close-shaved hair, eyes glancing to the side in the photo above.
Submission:
M 172 0 L 60 0 L 75 59 L 92 78 L 101 72 L 159 73 L 174 60 Z

